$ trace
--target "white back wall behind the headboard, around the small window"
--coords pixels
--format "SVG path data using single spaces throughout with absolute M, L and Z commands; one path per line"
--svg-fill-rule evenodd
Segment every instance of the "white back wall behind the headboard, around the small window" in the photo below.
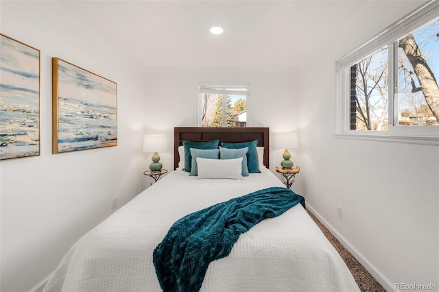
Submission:
M 145 75 L 147 119 L 160 121 L 161 130 L 198 126 L 198 84 L 200 82 L 249 82 L 250 125 L 270 127 L 275 132 L 298 132 L 299 99 L 295 69 L 192 68 L 160 69 Z M 249 116 L 248 116 L 249 117 Z M 300 139 L 300 136 L 298 137 Z M 283 149 L 270 144 L 270 169 L 280 165 Z M 290 149 L 292 160 L 300 165 L 300 149 Z M 172 157 L 170 159 L 173 159 Z M 292 189 L 302 193 L 301 175 Z

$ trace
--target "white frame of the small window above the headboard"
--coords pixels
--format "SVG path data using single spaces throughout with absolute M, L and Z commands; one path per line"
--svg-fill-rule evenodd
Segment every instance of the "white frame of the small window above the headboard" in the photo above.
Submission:
M 233 89 L 237 90 L 233 90 Z M 239 90 L 238 90 L 239 89 Z M 244 90 L 243 90 L 244 89 Z M 222 121 L 226 121 L 226 95 L 244 95 L 246 96 L 246 127 L 250 127 L 250 83 L 215 83 L 215 82 L 200 82 L 198 84 L 198 127 L 202 126 L 202 99 L 200 96 L 203 93 L 213 93 L 223 96 Z

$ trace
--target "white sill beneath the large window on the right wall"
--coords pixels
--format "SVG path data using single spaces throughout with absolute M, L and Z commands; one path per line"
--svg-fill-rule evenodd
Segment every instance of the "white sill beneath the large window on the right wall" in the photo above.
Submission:
M 335 138 L 439 146 L 439 136 L 402 136 L 389 134 L 336 133 Z

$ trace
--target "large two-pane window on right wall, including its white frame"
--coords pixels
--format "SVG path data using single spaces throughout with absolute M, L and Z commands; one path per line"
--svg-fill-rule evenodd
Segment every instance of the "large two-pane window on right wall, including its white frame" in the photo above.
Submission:
M 337 136 L 439 145 L 439 3 L 337 61 Z

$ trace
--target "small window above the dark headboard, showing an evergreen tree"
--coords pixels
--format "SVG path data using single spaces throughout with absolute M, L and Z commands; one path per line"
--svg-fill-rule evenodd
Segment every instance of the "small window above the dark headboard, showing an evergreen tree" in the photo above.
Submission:
M 247 127 L 250 86 L 248 84 L 199 86 L 201 127 Z

